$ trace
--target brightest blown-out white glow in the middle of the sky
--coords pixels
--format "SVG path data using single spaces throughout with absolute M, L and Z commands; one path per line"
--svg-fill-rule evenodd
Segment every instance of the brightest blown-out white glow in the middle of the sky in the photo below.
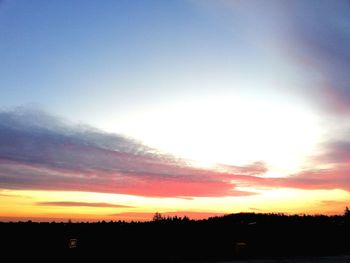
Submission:
M 160 105 L 118 126 L 146 145 L 204 166 L 264 161 L 270 176 L 298 171 L 321 138 L 310 110 L 288 100 L 238 96 Z

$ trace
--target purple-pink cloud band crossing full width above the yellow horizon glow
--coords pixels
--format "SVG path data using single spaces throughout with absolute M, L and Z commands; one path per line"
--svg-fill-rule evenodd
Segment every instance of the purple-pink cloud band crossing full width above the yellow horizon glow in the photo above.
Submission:
M 57 125 L 51 129 L 47 119 L 45 127 L 31 126 L 10 117 L 0 113 L 0 189 L 181 198 L 256 194 L 238 186 L 350 191 L 349 142 L 325 144 L 324 154 L 314 158 L 316 164 L 333 164 L 332 169 L 268 178 L 261 176 L 268 169 L 262 162 L 199 169 L 118 135 Z

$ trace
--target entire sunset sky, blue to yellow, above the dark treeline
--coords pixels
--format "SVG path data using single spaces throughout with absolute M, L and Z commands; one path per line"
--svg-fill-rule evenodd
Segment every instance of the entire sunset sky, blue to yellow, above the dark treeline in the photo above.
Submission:
M 0 220 L 342 214 L 349 13 L 0 1 Z

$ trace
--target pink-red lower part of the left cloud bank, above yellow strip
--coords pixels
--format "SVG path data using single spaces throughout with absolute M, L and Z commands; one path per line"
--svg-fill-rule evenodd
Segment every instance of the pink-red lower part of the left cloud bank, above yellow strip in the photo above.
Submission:
M 7 189 L 71 190 L 154 197 L 242 196 L 221 174 L 189 167 L 169 166 L 170 176 L 150 173 L 69 171 L 46 166 L 0 162 L 0 186 Z M 176 173 L 178 171 L 178 173 Z M 186 173 L 185 173 L 186 172 Z

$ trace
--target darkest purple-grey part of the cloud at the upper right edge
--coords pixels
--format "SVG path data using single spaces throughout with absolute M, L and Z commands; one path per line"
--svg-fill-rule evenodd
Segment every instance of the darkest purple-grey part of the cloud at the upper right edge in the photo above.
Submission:
M 350 112 L 350 3 L 297 1 L 293 18 L 300 62 L 319 75 L 314 98 L 336 114 Z

